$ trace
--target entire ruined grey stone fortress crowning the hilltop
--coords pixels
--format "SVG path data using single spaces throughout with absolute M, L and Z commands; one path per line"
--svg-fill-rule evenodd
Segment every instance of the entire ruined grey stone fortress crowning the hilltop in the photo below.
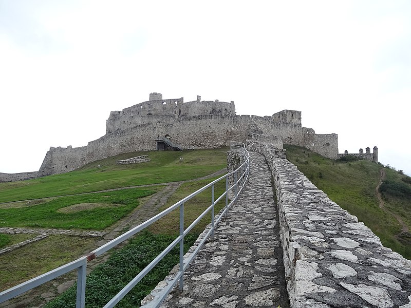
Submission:
M 269 141 L 306 147 L 330 159 L 338 158 L 338 135 L 316 134 L 301 126 L 301 111 L 283 110 L 265 117 L 236 115 L 234 102 L 163 99 L 151 93 L 146 102 L 111 111 L 106 134 L 87 146 L 50 147 L 39 171 L 0 173 L 0 182 L 61 174 L 93 161 L 120 153 L 158 149 L 156 140 L 166 138 L 182 149 L 219 148 L 230 140 Z

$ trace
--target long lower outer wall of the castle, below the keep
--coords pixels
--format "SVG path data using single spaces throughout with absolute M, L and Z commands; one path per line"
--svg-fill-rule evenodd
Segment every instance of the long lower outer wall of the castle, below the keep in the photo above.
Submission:
M 162 115 L 152 117 L 151 123 L 106 134 L 85 147 L 50 148 L 40 174 L 68 172 L 120 153 L 155 150 L 154 140 L 166 134 L 171 136 L 172 142 L 186 149 L 219 148 L 228 145 L 230 140 L 245 142 L 250 132 L 257 132 L 262 136 L 277 136 L 286 144 L 305 146 L 329 158 L 335 159 L 338 154 L 337 134 L 320 135 L 312 129 L 306 133 L 306 128 L 274 122 L 270 117 L 208 114 L 186 117 L 172 124 L 163 121 L 166 117 Z

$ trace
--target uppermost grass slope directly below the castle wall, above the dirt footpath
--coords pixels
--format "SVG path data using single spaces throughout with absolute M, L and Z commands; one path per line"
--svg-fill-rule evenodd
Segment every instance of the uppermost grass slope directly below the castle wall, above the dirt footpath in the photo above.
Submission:
M 116 160 L 147 154 L 150 162 L 116 165 Z M 180 157 L 183 157 L 182 162 Z M 0 202 L 192 180 L 225 168 L 226 158 L 227 149 L 126 153 L 90 163 L 66 174 L 0 183 Z

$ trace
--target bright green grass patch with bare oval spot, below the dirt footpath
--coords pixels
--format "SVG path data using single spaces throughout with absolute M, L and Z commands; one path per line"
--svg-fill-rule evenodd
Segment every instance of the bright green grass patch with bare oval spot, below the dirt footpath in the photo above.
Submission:
M 0 208 L 0 227 L 40 227 L 59 229 L 102 230 L 126 216 L 139 204 L 138 199 L 154 194 L 159 187 L 132 188 L 66 196 L 51 201 L 18 208 Z M 59 209 L 81 203 L 107 204 L 61 213 Z

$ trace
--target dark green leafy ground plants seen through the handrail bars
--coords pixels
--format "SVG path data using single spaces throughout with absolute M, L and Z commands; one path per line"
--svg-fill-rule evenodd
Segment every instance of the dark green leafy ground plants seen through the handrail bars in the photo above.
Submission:
M 198 234 L 185 237 L 184 253 L 193 245 L 197 237 Z M 104 264 L 96 266 L 86 280 L 86 307 L 104 306 L 175 238 L 176 235 L 154 235 L 144 232 L 130 241 L 127 246 L 113 253 Z M 178 260 L 179 246 L 177 245 L 116 307 L 139 307 L 141 300 L 169 274 L 171 268 L 179 262 Z M 75 284 L 44 307 L 76 307 L 76 288 Z

